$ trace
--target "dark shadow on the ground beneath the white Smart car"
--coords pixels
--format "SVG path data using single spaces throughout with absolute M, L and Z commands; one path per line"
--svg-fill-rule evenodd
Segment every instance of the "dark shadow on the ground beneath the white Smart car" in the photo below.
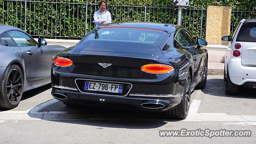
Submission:
M 238 94 L 234 96 L 226 95 L 225 93 L 225 82 L 223 79 L 208 79 L 206 86 L 201 90 L 205 94 L 210 94 L 212 96 L 222 96 L 231 98 L 248 98 L 256 99 L 255 91 L 256 89 L 249 89 L 243 86 L 238 87 Z

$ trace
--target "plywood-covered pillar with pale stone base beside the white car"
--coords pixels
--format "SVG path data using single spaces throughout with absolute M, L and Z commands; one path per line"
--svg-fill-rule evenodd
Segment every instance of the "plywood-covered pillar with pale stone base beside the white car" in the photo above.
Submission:
M 230 35 L 231 6 L 208 6 L 206 18 L 206 41 L 209 62 L 224 62 L 228 42 L 222 36 Z

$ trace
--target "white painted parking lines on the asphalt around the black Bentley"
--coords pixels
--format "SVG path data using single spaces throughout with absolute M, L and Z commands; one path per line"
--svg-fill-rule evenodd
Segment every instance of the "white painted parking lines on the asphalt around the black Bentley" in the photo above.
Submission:
M 48 100 L 26 111 L 3 111 L 0 112 L 0 120 L 113 120 L 113 118 L 88 118 L 83 114 L 68 114 L 66 111 L 40 112 L 43 108 L 58 102 L 56 99 Z M 256 121 L 256 116 L 227 115 L 225 113 L 198 113 L 201 100 L 193 100 L 190 105 L 188 117 L 184 121 L 240 121 L 238 123 L 224 124 L 247 124 L 254 125 L 256 122 L 241 123 L 243 121 Z M 121 120 L 121 119 L 115 119 Z M 142 120 L 142 119 L 130 119 Z M 156 119 L 152 119 L 156 120 Z M 167 120 L 168 121 L 168 120 Z

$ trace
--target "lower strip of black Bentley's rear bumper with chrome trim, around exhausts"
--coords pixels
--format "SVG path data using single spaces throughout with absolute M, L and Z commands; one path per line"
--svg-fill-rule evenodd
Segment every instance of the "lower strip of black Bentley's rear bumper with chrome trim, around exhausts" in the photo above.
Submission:
M 92 106 L 106 106 L 112 108 L 125 108 L 133 110 L 146 110 L 162 112 L 174 108 L 180 104 L 183 95 L 166 95 L 166 97 L 153 97 L 149 95 L 142 96 L 141 94 L 130 94 L 125 97 L 114 96 L 99 96 L 97 94 L 83 94 L 80 92 L 72 92 L 68 90 L 61 90 L 52 87 L 52 94 L 63 94 L 67 97 L 66 100 L 58 100 L 62 102 L 72 102 L 79 105 L 92 105 Z M 167 97 L 168 96 L 168 97 Z M 159 103 L 164 104 L 162 108 L 144 108 L 141 104 L 144 103 Z

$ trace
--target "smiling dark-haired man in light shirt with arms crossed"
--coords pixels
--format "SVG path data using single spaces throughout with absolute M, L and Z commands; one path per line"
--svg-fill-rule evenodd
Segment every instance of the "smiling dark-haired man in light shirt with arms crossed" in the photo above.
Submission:
M 93 15 L 96 27 L 101 26 L 102 24 L 111 23 L 111 14 L 106 10 L 107 2 L 105 0 L 101 0 L 99 6 L 100 10 L 94 12 Z

